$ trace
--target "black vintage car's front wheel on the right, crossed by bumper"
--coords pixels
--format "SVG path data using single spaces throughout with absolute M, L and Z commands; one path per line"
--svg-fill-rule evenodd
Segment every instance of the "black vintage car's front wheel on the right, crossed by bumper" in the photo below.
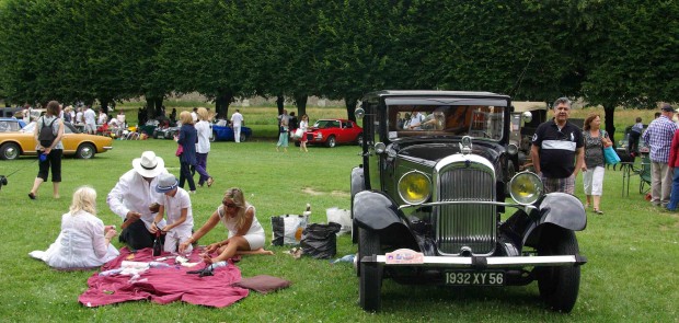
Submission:
M 538 254 L 541 256 L 579 254 L 575 232 L 566 229 L 542 232 Z M 580 266 L 537 268 L 540 297 L 554 311 L 568 313 L 573 310 L 580 287 Z

